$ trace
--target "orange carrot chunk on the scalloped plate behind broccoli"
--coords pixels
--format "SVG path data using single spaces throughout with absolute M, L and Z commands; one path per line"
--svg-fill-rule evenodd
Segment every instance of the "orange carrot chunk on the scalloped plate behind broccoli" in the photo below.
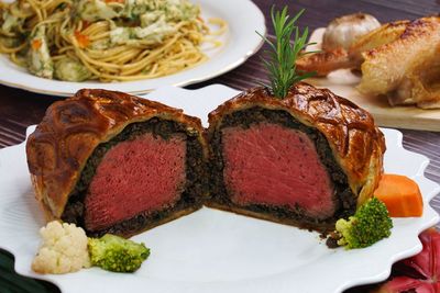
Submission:
M 406 176 L 383 174 L 374 196 L 385 203 L 392 217 L 421 216 L 424 213 L 419 185 Z

